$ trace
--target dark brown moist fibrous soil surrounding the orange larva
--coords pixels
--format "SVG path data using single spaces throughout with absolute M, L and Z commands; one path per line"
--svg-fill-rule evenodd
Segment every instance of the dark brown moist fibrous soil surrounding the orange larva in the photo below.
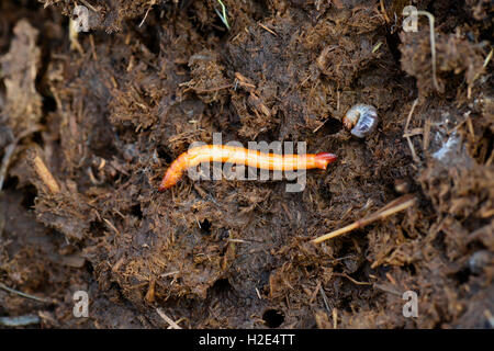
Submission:
M 437 82 L 427 18 L 402 29 L 408 1 L 223 3 L 229 30 L 217 0 L 1 2 L 0 316 L 494 327 L 492 1 L 412 1 L 436 20 Z M 90 8 L 88 33 L 69 31 L 76 4 Z M 366 139 L 341 124 L 356 103 L 380 116 Z M 187 177 L 158 193 L 170 162 L 213 133 L 306 141 L 338 161 L 300 193 Z M 416 205 L 310 242 L 406 193 Z M 79 290 L 88 318 L 72 315 Z M 408 290 L 417 318 L 402 314 Z

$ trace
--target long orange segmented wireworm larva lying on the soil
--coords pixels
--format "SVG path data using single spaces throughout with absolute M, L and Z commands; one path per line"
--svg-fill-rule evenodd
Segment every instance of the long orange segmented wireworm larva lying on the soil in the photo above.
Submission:
M 184 171 L 202 162 L 231 162 L 248 167 L 269 169 L 276 171 L 321 168 L 336 160 L 333 154 L 306 154 L 306 155 L 278 155 L 265 154 L 243 147 L 227 145 L 204 145 L 191 148 L 180 155 L 168 168 L 159 191 L 173 186 L 180 180 Z

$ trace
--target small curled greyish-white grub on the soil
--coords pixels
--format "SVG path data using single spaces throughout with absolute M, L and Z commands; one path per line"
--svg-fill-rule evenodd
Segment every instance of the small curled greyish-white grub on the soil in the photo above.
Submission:
M 351 129 L 350 133 L 352 135 L 358 138 L 364 138 L 378 128 L 378 111 L 372 105 L 356 104 L 348 110 L 343 118 L 343 123 L 347 129 Z

